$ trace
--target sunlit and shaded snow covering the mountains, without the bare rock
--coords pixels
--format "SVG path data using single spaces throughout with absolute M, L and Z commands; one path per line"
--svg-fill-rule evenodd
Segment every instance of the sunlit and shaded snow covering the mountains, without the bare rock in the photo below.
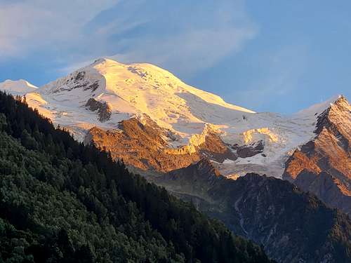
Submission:
M 249 172 L 282 177 L 284 161 L 296 147 L 314 137 L 317 116 L 336 100 L 332 98 L 291 116 L 256 113 L 189 86 L 154 65 L 125 65 L 105 58 L 40 88 L 20 80 L 0 83 L 0 89 L 26 95 L 29 106 L 68 128 L 80 141 L 94 126 L 117 129 L 119 121 L 131 117 L 142 123 L 157 123 L 170 134 L 166 140 L 171 148 L 196 147 L 208 128 L 228 145 L 262 141 L 264 149 L 260 154 L 216 163 L 220 172 L 229 177 Z M 89 98 L 106 103 L 110 119 L 99 121 L 97 112 L 86 107 Z

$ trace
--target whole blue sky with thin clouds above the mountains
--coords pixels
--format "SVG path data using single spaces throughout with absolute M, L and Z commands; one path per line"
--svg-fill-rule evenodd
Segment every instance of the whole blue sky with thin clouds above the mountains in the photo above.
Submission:
M 289 114 L 351 98 L 351 1 L 0 0 L 0 81 L 41 86 L 110 56 Z

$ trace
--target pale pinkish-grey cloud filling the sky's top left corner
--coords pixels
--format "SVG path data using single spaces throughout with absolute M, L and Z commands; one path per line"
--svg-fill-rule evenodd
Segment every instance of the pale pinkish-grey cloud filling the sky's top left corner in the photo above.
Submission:
M 55 48 L 81 38 L 81 29 L 116 0 L 0 2 L 0 57 Z

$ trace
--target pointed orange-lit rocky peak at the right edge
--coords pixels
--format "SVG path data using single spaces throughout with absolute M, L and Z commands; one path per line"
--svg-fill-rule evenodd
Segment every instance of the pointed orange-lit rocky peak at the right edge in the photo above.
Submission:
M 351 107 L 345 97 L 318 116 L 314 133 L 286 161 L 283 178 L 351 213 Z

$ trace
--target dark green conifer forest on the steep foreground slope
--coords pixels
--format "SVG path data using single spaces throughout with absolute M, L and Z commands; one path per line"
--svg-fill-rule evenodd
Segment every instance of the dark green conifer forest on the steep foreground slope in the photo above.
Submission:
M 270 262 L 0 92 L 0 262 Z

